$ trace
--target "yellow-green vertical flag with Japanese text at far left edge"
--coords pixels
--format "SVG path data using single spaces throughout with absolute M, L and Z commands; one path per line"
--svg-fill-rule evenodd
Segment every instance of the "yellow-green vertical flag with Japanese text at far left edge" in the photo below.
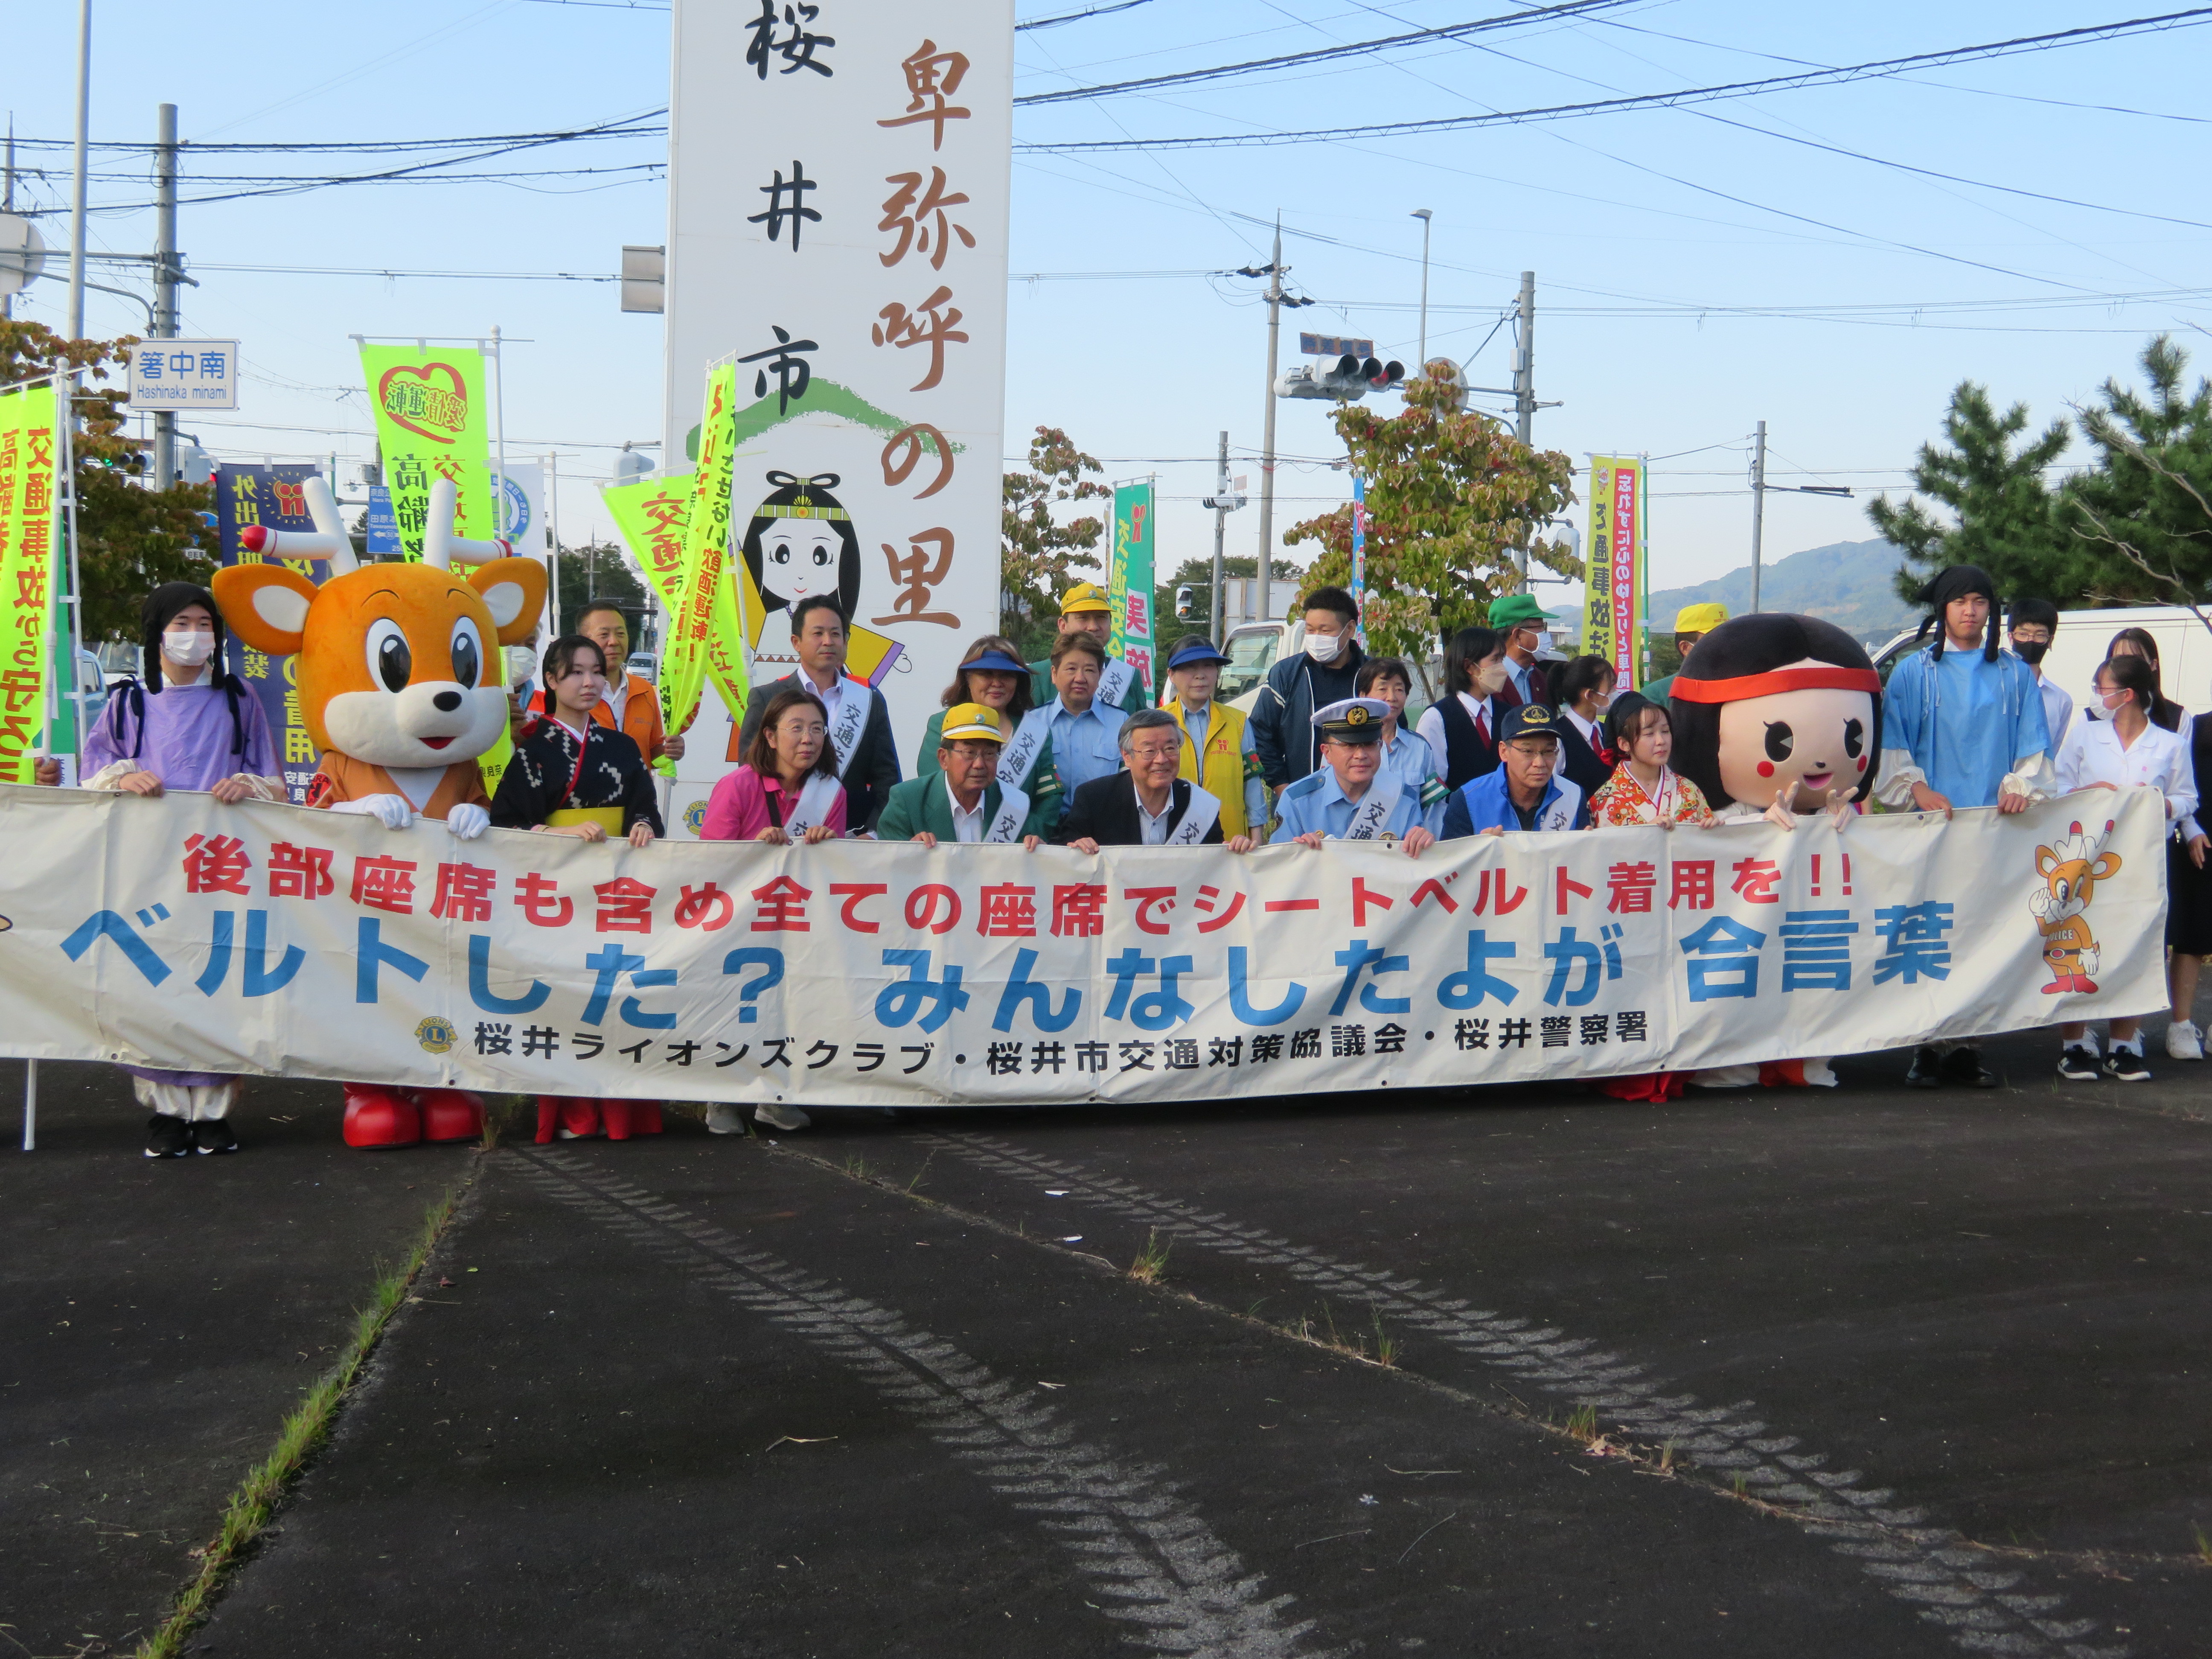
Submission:
M 53 383 L 0 396 L 0 783 L 33 783 L 53 626 Z

